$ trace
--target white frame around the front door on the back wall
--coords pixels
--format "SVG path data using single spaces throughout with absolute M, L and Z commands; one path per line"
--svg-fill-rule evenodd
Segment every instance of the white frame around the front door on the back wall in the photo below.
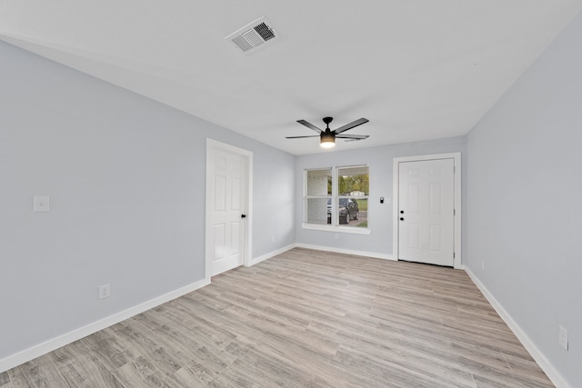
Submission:
M 455 190 L 454 190 L 454 207 L 455 216 L 453 217 L 454 227 L 453 227 L 453 239 L 454 239 L 454 259 L 453 267 L 456 269 L 462 268 L 462 255 L 461 255 L 461 153 L 451 153 L 451 154 L 427 154 L 427 155 L 416 155 L 416 156 L 404 156 L 395 157 L 392 162 L 392 187 L 393 187 L 393 198 L 392 202 L 392 254 L 395 260 L 398 260 L 398 228 L 400 224 L 398 223 L 398 202 L 400 193 L 400 179 L 399 179 L 399 164 L 403 162 L 418 162 L 427 160 L 438 160 L 438 159 L 453 159 L 455 165 Z

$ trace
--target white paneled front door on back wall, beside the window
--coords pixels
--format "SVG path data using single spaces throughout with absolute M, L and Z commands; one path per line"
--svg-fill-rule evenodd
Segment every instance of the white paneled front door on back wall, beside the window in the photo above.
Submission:
M 398 164 L 398 259 L 453 266 L 455 162 Z

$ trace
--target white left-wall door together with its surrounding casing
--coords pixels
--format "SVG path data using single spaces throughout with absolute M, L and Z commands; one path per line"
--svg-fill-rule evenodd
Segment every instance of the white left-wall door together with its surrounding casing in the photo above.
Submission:
M 206 278 L 248 265 L 252 153 L 208 139 L 206 146 Z

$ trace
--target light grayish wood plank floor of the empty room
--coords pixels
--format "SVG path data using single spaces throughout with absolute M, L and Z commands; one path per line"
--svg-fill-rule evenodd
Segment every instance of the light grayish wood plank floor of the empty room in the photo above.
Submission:
M 463 271 L 299 248 L 0 373 L 146 386 L 553 384 Z

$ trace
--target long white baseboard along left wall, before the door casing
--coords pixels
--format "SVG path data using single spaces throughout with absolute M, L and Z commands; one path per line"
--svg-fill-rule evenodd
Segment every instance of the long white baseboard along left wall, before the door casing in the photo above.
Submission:
M 21 352 L 9 355 L 0 360 L 0 373 L 12 369 L 22 363 L 27 363 L 31 360 L 34 360 L 36 357 L 39 357 L 43 354 L 53 352 L 54 350 L 69 343 L 74 343 L 75 341 L 80 340 L 87 335 L 96 333 L 99 330 L 103 330 L 115 323 L 125 321 L 126 319 L 131 318 L 138 313 L 144 313 L 145 311 L 152 309 L 160 304 L 169 302 L 173 299 L 176 299 L 177 297 L 185 295 L 186 293 L 191 293 L 199 288 L 204 287 L 207 284 L 210 284 L 210 282 L 206 279 L 193 284 L 188 284 L 170 293 L 165 293 L 147 302 L 137 304 L 134 307 L 130 307 L 122 312 L 114 313 L 113 315 L 109 315 L 99 321 L 89 323 L 83 327 L 79 327 L 72 332 L 59 335 L 58 337 L 52 338 L 48 341 L 45 341 L 44 343 L 39 343 Z

